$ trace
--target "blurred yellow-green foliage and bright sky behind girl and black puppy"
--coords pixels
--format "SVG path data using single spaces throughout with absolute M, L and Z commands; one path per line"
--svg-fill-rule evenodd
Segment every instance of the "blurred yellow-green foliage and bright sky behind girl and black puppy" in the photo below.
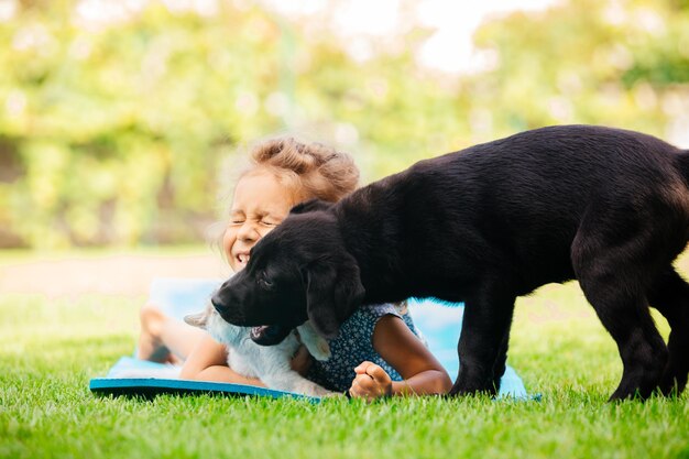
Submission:
M 363 183 L 560 123 L 689 147 L 689 0 L 0 0 L 0 248 L 198 244 L 247 145 Z

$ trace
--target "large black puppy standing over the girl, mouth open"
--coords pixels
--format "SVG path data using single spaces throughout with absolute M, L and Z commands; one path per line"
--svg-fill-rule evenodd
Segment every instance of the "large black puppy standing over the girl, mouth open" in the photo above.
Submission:
M 689 152 L 649 135 L 569 125 L 422 161 L 340 203 L 309 201 L 216 293 L 227 321 L 280 341 L 310 319 L 326 337 L 362 304 L 464 302 L 451 394 L 494 393 L 514 302 L 577 278 L 616 341 L 612 398 L 683 390 L 689 284 L 672 261 L 689 239 Z M 671 327 L 668 346 L 648 306 Z

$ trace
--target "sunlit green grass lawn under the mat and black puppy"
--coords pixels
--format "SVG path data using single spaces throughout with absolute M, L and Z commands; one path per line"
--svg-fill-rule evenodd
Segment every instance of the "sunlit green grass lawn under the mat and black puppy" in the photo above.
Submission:
M 510 363 L 539 402 L 95 397 L 143 299 L 0 293 L 1 458 L 689 458 L 687 394 L 605 402 L 621 363 L 576 283 L 517 304 Z

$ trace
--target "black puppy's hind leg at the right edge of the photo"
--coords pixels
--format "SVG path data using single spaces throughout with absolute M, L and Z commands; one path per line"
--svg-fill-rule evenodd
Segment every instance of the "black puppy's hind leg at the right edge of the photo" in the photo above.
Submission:
M 650 305 L 658 309 L 670 325 L 669 359 L 665 367 L 660 391 L 681 394 L 689 374 L 689 284 L 669 266 L 648 291 Z

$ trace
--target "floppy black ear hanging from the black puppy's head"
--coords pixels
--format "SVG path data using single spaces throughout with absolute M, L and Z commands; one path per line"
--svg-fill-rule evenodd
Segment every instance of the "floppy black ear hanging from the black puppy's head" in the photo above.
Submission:
M 365 289 L 359 266 L 347 254 L 341 264 L 313 263 L 306 271 L 306 312 L 311 325 L 326 338 L 335 338 L 340 325 L 361 305 Z

